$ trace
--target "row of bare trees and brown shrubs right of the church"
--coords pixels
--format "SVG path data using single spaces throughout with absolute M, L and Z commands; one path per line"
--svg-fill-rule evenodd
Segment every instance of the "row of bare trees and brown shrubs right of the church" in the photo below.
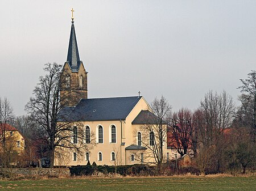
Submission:
M 256 71 L 241 79 L 239 100 L 235 107 L 232 96 L 209 91 L 195 111 L 181 108 L 170 118 L 170 147 L 180 156 L 192 154 L 201 173 L 232 173 L 254 170 L 256 162 Z

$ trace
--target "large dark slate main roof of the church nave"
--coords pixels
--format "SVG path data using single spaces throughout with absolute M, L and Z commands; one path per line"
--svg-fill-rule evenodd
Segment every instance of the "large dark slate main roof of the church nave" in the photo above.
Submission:
M 58 121 L 125 120 L 142 96 L 81 99 L 76 107 L 65 107 Z

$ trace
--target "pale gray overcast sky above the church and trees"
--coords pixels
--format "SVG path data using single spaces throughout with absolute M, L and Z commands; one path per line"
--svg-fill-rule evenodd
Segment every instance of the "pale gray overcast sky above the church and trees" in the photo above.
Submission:
M 67 60 L 71 8 L 89 97 L 165 96 L 195 109 L 209 90 L 237 100 L 256 66 L 256 1 L 1 1 L 0 97 L 24 114 L 44 63 Z M 237 102 L 237 104 L 239 104 Z

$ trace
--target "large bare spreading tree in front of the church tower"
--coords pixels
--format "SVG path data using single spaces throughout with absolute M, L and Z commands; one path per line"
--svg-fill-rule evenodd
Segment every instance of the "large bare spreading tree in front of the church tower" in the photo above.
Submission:
M 54 164 L 56 147 L 83 152 L 93 145 L 93 139 L 85 144 L 82 122 L 67 121 L 65 118 L 68 116 L 60 112 L 73 99 L 73 94 L 60 96 L 61 85 L 65 83 L 61 78 L 61 73 L 64 73 L 61 69 L 62 66 L 57 63 L 46 64 L 46 75 L 39 77 L 39 83 L 33 91 L 34 97 L 30 97 L 25 107 L 31 120 L 41 129 L 42 137 L 48 140 L 50 167 Z

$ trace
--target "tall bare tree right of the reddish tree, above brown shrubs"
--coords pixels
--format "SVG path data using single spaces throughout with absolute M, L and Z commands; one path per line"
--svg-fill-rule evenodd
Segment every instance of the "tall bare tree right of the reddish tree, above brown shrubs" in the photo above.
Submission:
M 227 146 L 224 139 L 224 130 L 232 124 L 234 103 L 225 91 L 221 94 L 209 91 L 201 101 L 203 124 L 199 124 L 200 141 L 203 146 L 214 146 L 214 167 L 220 171 L 224 162 L 224 148 Z

